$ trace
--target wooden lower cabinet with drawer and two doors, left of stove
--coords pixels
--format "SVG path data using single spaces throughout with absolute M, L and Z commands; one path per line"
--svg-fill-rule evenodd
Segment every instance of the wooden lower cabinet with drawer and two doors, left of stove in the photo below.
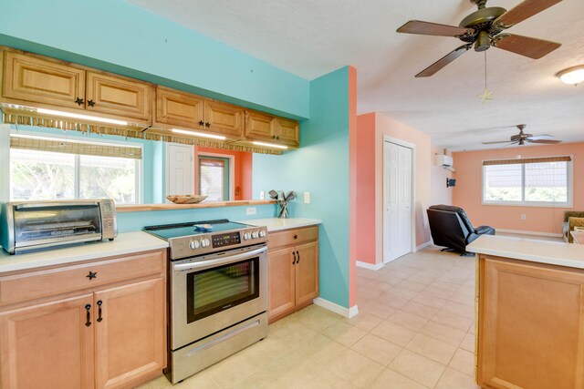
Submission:
M 52 283 L 33 282 L 49 276 Z M 0 306 L 0 387 L 131 388 L 162 374 L 166 251 L 7 274 L 0 290 L 22 282 L 43 297 L 14 295 L 16 304 Z

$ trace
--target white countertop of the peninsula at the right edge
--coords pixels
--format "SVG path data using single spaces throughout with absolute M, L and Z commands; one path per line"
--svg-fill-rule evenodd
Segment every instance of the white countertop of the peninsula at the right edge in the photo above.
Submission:
M 466 251 L 584 269 L 584 245 L 581 244 L 482 235 L 466 246 Z

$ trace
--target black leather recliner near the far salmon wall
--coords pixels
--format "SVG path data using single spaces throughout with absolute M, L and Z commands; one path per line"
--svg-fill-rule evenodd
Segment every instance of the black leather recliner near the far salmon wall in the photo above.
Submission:
M 466 245 L 481 235 L 495 235 L 495 229 L 489 226 L 473 227 L 462 208 L 452 205 L 433 205 L 428 210 L 430 232 L 437 246 L 466 254 Z

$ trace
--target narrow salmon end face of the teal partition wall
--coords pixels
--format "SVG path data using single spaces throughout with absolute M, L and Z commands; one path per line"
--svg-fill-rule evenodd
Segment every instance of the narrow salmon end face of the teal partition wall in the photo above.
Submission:
M 349 308 L 357 305 L 357 70 L 349 67 Z

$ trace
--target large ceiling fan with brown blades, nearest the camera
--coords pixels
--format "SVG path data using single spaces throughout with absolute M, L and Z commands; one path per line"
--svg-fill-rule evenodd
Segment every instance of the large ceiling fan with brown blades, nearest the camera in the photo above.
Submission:
M 525 0 L 507 11 L 500 6 L 486 6 L 486 0 L 470 0 L 478 6 L 478 11 L 464 17 L 459 26 L 411 20 L 397 29 L 398 33 L 420 34 L 424 36 L 454 36 L 464 42 L 454 51 L 434 62 L 418 73 L 416 77 L 430 77 L 438 70 L 462 56 L 472 46 L 474 51 L 485 51 L 490 46 L 538 59 L 546 56 L 561 44 L 528 36 L 503 33 L 509 27 L 556 5 L 562 0 Z

